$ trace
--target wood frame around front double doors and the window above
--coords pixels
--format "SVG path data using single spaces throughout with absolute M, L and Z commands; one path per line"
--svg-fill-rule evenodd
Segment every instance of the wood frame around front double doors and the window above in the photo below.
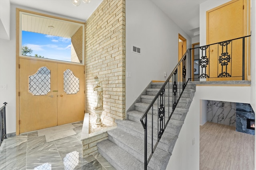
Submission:
M 20 45 L 21 45 L 21 41 L 20 41 L 20 12 L 26 12 L 26 13 L 30 13 L 30 14 L 36 14 L 36 15 L 40 15 L 40 16 L 45 16 L 45 17 L 49 17 L 49 18 L 55 18 L 58 20 L 64 20 L 64 21 L 70 21 L 70 22 L 74 22 L 74 23 L 81 23 L 84 24 L 85 27 L 85 23 L 81 22 L 81 21 L 75 21 L 75 20 L 70 20 L 70 19 L 66 19 L 66 18 L 61 18 L 61 17 L 56 17 L 56 16 L 51 16 L 48 14 L 42 14 L 39 12 L 33 12 L 33 11 L 29 11 L 29 10 L 23 10 L 21 8 L 16 8 L 16 135 L 20 135 L 20 98 L 19 98 L 19 94 L 20 94 L 20 76 L 19 76 L 19 59 L 20 58 L 26 58 L 26 59 L 31 59 L 31 60 L 38 60 L 38 61 L 46 61 L 45 59 L 40 59 L 40 58 L 32 58 L 32 57 L 23 57 L 20 56 Z M 84 34 L 85 36 L 85 34 Z M 85 41 L 84 41 L 84 49 L 86 47 Z M 85 59 L 85 52 L 84 52 L 84 59 Z M 72 65 L 82 65 L 79 63 L 70 63 L 70 62 L 65 62 L 65 61 L 55 61 L 55 60 L 47 60 L 48 62 L 54 62 L 54 63 L 62 63 L 62 64 L 72 64 Z M 84 62 L 84 80 L 86 80 L 85 78 L 85 62 Z M 84 89 L 86 89 L 86 83 L 84 83 Z M 86 108 L 86 94 L 84 92 L 84 110 Z

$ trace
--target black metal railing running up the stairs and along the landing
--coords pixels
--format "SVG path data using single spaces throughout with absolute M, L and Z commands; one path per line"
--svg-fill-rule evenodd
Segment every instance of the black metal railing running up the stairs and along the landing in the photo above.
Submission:
M 219 53 L 219 49 L 218 49 L 217 58 L 216 58 L 216 60 L 218 61 L 217 63 L 220 64 L 221 66 L 220 67 L 221 72 L 220 73 L 217 72 L 218 76 L 216 76 L 216 78 L 232 77 L 232 74 L 228 72 L 228 70 L 233 69 L 232 68 L 232 42 L 242 39 L 242 69 L 241 69 L 242 73 L 241 75 L 239 75 L 239 77 L 241 77 L 241 79 L 244 80 L 245 38 L 250 36 L 251 35 L 236 38 L 236 39 L 231 39 L 228 41 L 222 41 L 222 42 L 214 43 L 210 45 L 205 45 L 201 47 L 196 47 L 193 49 L 188 49 L 186 51 L 182 59 L 178 62 L 178 64 L 176 65 L 176 67 L 174 68 L 170 76 L 164 82 L 164 84 L 162 85 L 162 87 L 160 88 L 160 90 L 158 91 L 158 93 L 156 94 L 156 96 L 154 97 L 154 99 L 152 100 L 152 102 L 150 103 L 150 105 L 147 107 L 146 111 L 140 118 L 140 122 L 144 129 L 144 169 L 145 170 L 147 169 L 148 163 L 154 151 L 156 150 L 156 147 L 164 133 L 164 130 L 166 129 L 168 122 L 172 117 L 172 114 L 174 113 L 174 109 L 176 108 L 180 100 L 180 97 L 184 92 L 186 85 L 188 84 L 188 81 L 192 80 L 191 51 L 198 49 L 198 54 L 200 54 L 200 59 L 198 59 L 199 61 L 198 68 L 200 68 L 198 70 L 199 72 L 198 79 L 215 78 L 215 76 L 210 76 L 210 49 L 211 49 L 210 47 L 214 45 L 218 45 L 221 48 L 221 53 Z M 229 45 L 231 45 L 231 47 Z M 231 65 L 231 68 L 227 67 L 229 64 Z M 237 77 L 237 75 L 233 77 Z M 157 109 L 154 109 L 154 107 L 157 107 Z M 154 124 L 154 113 L 157 115 L 157 125 Z M 151 114 L 151 119 L 148 119 L 148 116 L 150 114 Z M 150 129 L 148 129 L 149 126 L 151 126 Z M 156 129 L 154 129 L 154 127 L 156 126 L 157 126 L 157 131 Z M 148 156 L 148 135 L 151 135 L 149 156 Z

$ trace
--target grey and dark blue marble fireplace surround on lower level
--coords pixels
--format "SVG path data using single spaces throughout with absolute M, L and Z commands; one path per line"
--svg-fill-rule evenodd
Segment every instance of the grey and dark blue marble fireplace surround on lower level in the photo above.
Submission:
M 250 104 L 207 100 L 207 121 L 236 127 L 236 131 L 254 135 L 247 128 L 247 119 L 255 120 Z

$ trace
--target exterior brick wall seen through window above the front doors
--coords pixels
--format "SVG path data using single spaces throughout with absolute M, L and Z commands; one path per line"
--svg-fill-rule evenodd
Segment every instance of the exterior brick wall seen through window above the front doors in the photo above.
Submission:
M 82 63 L 83 60 L 83 27 L 81 26 L 71 37 L 71 61 Z

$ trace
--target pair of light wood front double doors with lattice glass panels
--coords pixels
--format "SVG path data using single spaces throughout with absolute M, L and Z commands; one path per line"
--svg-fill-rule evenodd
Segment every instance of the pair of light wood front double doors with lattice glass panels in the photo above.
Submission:
M 81 121 L 84 66 L 19 59 L 20 133 Z

